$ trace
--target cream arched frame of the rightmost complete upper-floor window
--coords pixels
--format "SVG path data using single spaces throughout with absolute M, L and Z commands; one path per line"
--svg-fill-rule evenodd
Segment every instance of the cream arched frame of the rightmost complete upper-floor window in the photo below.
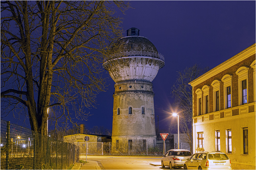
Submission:
M 248 93 L 248 70 L 249 67 L 243 66 L 240 67 L 237 71 L 236 74 L 238 75 L 238 105 L 241 106 L 243 104 L 243 99 L 242 99 L 242 81 L 246 80 L 246 88 L 247 88 L 247 103 L 249 103 L 249 93 Z

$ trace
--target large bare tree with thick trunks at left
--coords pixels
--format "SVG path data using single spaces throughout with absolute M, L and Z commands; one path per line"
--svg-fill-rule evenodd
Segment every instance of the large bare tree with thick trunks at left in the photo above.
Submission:
M 1 1 L 1 114 L 31 129 L 86 120 L 106 88 L 102 63 L 120 39 L 123 1 Z M 48 114 L 49 108 L 49 114 Z M 75 116 L 73 116 L 75 115 Z

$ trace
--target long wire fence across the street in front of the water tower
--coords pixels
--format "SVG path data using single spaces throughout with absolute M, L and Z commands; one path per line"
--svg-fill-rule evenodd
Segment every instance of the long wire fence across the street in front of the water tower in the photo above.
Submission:
M 119 143 L 112 145 L 112 142 L 75 142 L 79 148 L 80 155 L 163 155 L 159 147 L 153 147 L 154 143 Z

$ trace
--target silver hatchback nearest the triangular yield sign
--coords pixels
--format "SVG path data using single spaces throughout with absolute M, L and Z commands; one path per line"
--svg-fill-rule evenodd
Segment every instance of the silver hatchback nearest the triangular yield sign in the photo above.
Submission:
M 191 156 L 191 152 L 186 149 L 171 149 L 168 150 L 161 159 L 161 165 L 164 168 L 169 166 L 170 169 L 174 167 L 183 167 L 185 161 Z

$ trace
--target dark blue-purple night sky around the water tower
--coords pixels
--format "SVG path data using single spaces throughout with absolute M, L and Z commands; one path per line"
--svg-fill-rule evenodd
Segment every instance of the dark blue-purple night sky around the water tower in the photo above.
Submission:
M 255 1 L 130 1 L 133 7 L 123 17 L 123 36 L 135 27 L 165 57 L 165 66 L 153 83 L 155 120 L 167 129 L 166 117 L 174 102 L 171 87 L 177 72 L 195 63 L 216 67 L 255 43 Z M 97 96 L 97 109 L 88 121 L 77 121 L 87 128 L 112 129 L 114 81 L 109 77 L 108 90 Z M 5 119 L 5 118 L 4 118 Z M 7 119 L 5 119 L 7 120 Z M 29 121 L 27 121 L 29 126 Z M 16 122 L 13 122 L 16 123 Z M 166 131 L 167 132 L 167 131 Z M 168 132 L 167 132 L 168 133 Z

